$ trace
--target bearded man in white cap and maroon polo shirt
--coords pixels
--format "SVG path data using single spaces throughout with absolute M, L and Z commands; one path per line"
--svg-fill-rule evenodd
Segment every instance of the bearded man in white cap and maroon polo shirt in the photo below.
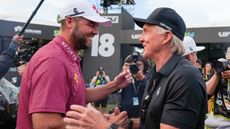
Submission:
M 60 34 L 34 54 L 23 73 L 17 129 L 64 129 L 63 117 L 70 105 L 85 106 L 132 80 L 124 71 L 103 87 L 86 89 L 77 51 L 90 47 L 99 25 L 110 26 L 111 21 L 101 17 L 94 5 L 79 0 L 65 6 L 58 21 Z M 127 113 L 112 118 L 109 122 L 125 123 Z

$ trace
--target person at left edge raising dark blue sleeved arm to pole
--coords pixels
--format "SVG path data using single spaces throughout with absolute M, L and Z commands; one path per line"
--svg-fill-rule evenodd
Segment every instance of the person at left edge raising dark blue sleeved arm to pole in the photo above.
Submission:
M 17 89 L 5 78 L 10 67 L 15 66 L 15 55 L 23 36 L 14 35 L 9 47 L 0 55 L 0 128 L 15 128 Z

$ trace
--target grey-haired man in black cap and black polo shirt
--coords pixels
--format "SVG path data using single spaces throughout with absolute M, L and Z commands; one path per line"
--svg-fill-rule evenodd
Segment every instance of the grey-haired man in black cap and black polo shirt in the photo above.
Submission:
M 155 63 L 141 105 L 141 129 L 203 129 L 205 82 L 182 57 L 183 19 L 173 9 L 157 8 L 147 19 L 134 21 L 143 28 L 139 38 L 143 56 Z

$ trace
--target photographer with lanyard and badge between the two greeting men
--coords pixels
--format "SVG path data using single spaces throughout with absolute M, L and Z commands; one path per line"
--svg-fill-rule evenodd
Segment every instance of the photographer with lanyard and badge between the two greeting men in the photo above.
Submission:
M 133 82 L 121 90 L 121 101 L 119 108 L 127 111 L 129 118 L 128 129 L 139 129 L 140 105 L 146 85 L 146 73 L 149 63 L 139 53 L 133 53 L 126 57 L 122 70 L 130 69 Z

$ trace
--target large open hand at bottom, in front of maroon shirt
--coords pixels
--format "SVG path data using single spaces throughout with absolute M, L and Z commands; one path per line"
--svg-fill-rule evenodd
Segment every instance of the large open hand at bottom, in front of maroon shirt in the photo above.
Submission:
M 109 123 L 104 116 L 92 107 L 72 105 L 66 113 L 64 122 L 66 129 L 107 129 Z

